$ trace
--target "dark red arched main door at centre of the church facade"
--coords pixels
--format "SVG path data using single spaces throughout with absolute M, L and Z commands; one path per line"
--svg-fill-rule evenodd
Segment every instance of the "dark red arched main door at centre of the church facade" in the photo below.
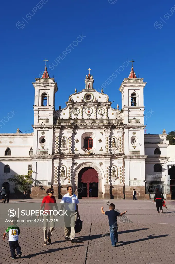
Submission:
M 92 167 L 85 167 L 78 173 L 78 198 L 98 197 L 98 173 Z

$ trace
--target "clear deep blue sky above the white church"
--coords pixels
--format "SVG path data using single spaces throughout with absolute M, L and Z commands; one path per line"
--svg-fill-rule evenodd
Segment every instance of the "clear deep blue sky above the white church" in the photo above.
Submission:
M 147 133 L 174 130 L 175 1 L 11 0 L 3 1 L 1 10 L 0 133 L 32 129 L 32 82 L 44 70 L 45 58 L 58 84 L 56 109 L 75 88 L 84 88 L 89 67 L 97 90 L 120 69 L 104 93 L 121 109 L 118 89 L 131 70 L 131 63 L 124 69 L 122 64 L 135 60 L 137 77 L 147 82 Z

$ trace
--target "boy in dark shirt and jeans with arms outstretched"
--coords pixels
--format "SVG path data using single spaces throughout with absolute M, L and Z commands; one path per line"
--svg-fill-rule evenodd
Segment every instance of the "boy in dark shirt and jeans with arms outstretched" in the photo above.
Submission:
M 103 206 L 101 207 L 102 214 L 106 214 L 108 216 L 108 219 L 109 219 L 110 238 L 111 238 L 112 247 L 116 247 L 116 244 L 118 243 L 117 216 L 122 216 L 122 215 L 126 214 L 126 212 L 127 212 L 127 211 L 125 211 L 123 213 L 119 213 L 119 212 L 115 211 L 114 209 L 115 209 L 114 204 L 110 204 L 109 205 L 109 211 L 106 211 L 106 212 L 103 211 Z

